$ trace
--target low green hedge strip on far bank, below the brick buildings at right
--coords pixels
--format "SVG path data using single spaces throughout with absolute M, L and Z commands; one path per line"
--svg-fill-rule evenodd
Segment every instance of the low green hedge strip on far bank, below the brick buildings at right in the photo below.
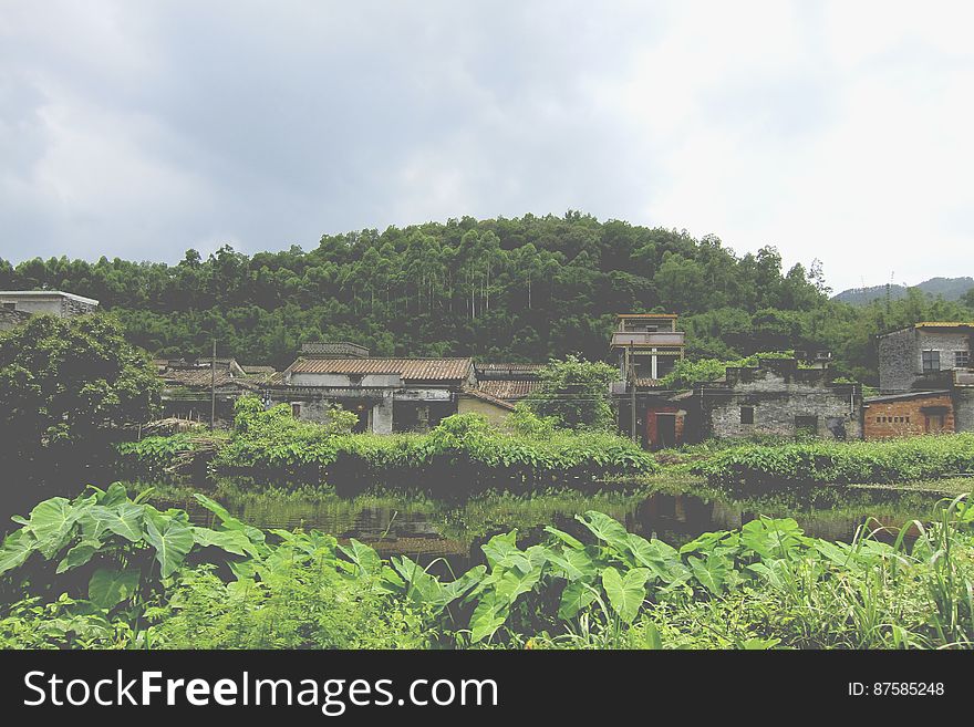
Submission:
M 693 466 L 714 485 L 908 482 L 974 472 L 974 434 L 742 445 Z

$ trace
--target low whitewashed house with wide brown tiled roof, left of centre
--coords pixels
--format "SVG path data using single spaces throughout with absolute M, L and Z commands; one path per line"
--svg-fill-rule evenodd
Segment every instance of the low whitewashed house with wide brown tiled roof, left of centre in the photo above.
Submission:
M 328 420 L 338 404 L 359 416 L 356 432 L 425 432 L 452 414 L 477 412 L 500 422 L 514 406 L 476 387 L 474 362 L 369 356 L 351 343 L 314 343 L 261 387 L 268 404 L 290 404 L 294 416 Z

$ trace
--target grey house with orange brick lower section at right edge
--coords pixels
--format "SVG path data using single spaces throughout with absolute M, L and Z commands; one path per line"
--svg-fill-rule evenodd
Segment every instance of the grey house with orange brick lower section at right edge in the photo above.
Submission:
M 877 344 L 880 396 L 866 399 L 867 439 L 974 432 L 974 323 L 921 322 Z

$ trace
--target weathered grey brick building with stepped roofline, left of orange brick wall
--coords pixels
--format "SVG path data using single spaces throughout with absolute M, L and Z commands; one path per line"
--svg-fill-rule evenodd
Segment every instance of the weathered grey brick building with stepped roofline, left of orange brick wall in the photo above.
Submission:
M 694 437 L 862 436 L 862 388 L 837 384 L 825 367 L 800 368 L 795 359 L 759 359 L 728 367 L 723 381 L 694 387 Z

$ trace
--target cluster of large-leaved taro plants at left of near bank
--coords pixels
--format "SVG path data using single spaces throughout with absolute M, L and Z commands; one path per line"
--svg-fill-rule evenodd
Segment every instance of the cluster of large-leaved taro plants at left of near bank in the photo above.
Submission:
M 79 636 L 93 627 L 107 633 L 113 619 L 135 633 L 146 604 L 193 551 L 256 554 L 247 533 L 195 526 L 183 510 L 157 510 L 145 501 L 149 495 L 132 500 L 120 484 L 90 487 L 74 500 L 54 497 L 28 518 L 14 517 L 21 527 L 0 546 L 3 590 L 53 600 L 61 622 Z

